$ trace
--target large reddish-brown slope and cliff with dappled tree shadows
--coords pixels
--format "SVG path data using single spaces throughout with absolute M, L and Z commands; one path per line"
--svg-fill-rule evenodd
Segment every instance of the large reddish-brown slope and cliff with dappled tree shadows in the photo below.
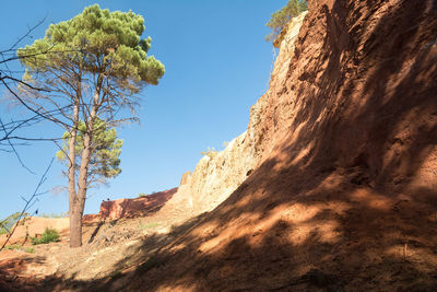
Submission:
M 81 269 L 64 260 L 63 273 L 22 283 L 435 291 L 436 39 L 435 1 L 310 1 L 245 133 L 204 156 L 157 212 L 95 227 L 114 243 L 69 255 Z M 160 226 L 140 231 L 141 220 Z

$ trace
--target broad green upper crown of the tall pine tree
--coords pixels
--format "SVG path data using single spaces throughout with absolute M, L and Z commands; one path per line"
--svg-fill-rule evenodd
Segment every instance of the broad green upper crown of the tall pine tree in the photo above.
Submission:
M 119 86 L 137 91 L 135 83 L 157 84 L 165 71 L 158 60 L 147 56 L 152 39 L 141 38 L 144 30 L 141 15 L 109 12 L 94 4 L 69 21 L 50 24 L 44 38 L 17 55 L 31 74 L 70 62 L 91 73 L 106 70 Z

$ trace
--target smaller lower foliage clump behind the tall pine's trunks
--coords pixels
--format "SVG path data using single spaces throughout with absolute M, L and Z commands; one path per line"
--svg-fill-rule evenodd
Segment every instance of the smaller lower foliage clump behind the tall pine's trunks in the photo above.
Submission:
M 106 183 L 107 179 L 114 178 L 121 173 L 120 154 L 122 140 L 117 139 L 117 130 L 115 128 L 107 129 L 104 120 L 96 118 L 93 127 L 93 151 L 88 164 L 88 179 L 90 183 Z M 76 147 L 75 152 L 79 156 L 83 150 L 84 133 L 86 131 L 85 122 L 82 120 L 78 126 Z M 63 147 L 56 153 L 56 157 L 68 164 L 66 152 L 69 151 L 69 142 L 71 139 L 70 132 L 66 131 L 62 136 Z M 76 163 L 79 171 L 80 164 Z

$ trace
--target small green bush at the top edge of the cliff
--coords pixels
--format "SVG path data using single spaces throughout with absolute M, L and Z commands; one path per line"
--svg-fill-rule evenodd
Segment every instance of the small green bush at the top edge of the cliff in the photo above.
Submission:
M 270 21 L 265 24 L 265 26 L 272 30 L 272 32 L 265 36 L 265 40 L 274 42 L 293 17 L 298 16 L 302 12 L 307 10 L 308 1 L 288 0 L 287 4 L 281 10 L 274 12 L 270 17 Z

